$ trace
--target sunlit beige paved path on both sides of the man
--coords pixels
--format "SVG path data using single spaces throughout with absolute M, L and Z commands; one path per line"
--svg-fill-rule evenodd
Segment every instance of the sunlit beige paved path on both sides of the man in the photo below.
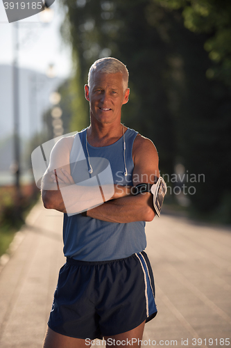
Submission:
M 1 348 L 42 347 L 65 262 L 62 214 L 39 203 L 26 222 L 19 246 L 0 268 Z M 143 347 L 227 347 L 222 339 L 231 336 L 231 230 L 162 214 L 147 223 L 146 234 L 159 313 L 146 324 Z

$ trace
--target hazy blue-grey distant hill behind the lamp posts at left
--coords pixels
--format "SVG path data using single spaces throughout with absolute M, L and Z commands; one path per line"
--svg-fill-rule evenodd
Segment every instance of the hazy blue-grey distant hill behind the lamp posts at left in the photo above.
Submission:
M 33 70 L 19 69 L 20 157 L 24 171 L 28 166 L 26 140 L 42 131 L 42 114 L 51 107 L 49 95 L 63 81 L 58 77 L 49 79 Z M 13 117 L 12 66 L 0 65 L 0 186 L 13 182 L 10 173 L 14 159 Z

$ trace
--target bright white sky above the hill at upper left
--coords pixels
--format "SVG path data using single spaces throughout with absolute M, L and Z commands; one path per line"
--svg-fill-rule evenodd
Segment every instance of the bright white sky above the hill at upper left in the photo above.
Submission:
M 39 15 L 17 22 L 19 67 L 46 74 L 49 64 L 53 64 L 57 77 L 68 77 L 71 74 L 71 48 L 64 44 L 60 36 L 65 9 L 57 0 L 51 9 L 53 19 L 49 24 L 42 23 Z M 0 64 L 12 64 L 14 33 L 15 24 L 8 23 L 3 1 L 0 1 Z

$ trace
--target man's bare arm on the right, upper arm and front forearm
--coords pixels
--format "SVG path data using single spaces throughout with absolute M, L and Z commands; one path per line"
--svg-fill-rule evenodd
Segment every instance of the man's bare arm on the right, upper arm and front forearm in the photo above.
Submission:
M 160 176 L 158 155 L 153 143 L 137 136 L 133 145 L 134 170 L 132 181 L 135 185 L 146 182 L 153 184 Z M 110 200 L 99 207 L 87 210 L 87 216 L 103 221 L 128 223 L 132 221 L 152 221 L 155 212 L 151 193 L 127 196 Z

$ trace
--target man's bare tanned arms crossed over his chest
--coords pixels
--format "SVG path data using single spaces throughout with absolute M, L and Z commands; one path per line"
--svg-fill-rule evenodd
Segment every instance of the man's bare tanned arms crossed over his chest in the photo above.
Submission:
M 56 209 L 60 212 L 67 212 L 60 189 L 62 190 L 63 187 L 74 184 L 74 181 L 70 175 L 70 168 L 68 164 L 66 164 L 66 166 L 61 166 L 57 161 L 55 164 L 53 164 L 52 160 L 52 157 L 57 157 L 58 152 L 60 155 L 61 148 L 62 152 L 67 154 L 67 157 L 69 158 L 68 149 L 65 149 L 65 146 L 67 147 L 67 143 L 65 142 L 67 141 L 65 139 L 62 140 L 62 144 L 60 144 L 60 146 L 57 147 L 53 153 L 51 153 L 51 164 L 49 168 L 49 170 L 52 171 L 55 166 L 56 168 L 62 167 L 62 169 L 57 170 L 59 189 L 57 189 L 57 177 L 55 177 L 54 173 L 52 174 L 51 172 L 47 171 L 42 182 L 42 200 L 44 202 L 44 207 L 48 209 Z M 70 143 L 68 144 L 68 147 L 71 147 Z M 68 162 L 68 158 L 65 160 L 62 159 L 62 163 L 64 164 Z M 160 176 L 158 170 L 157 150 L 149 139 L 142 136 L 136 137 L 133 145 L 133 159 L 133 182 L 135 182 L 135 184 L 142 182 L 149 182 L 152 184 L 155 177 Z M 53 189 L 47 190 L 46 187 L 51 187 L 51 185 L 53 185 Z M 78 185 L 74 186 L 77 187 Z M 71 186 L 69 187 L 71 188 Z M 70 189 L 69 194 L 71 194 L 71 191 L 73 194 L 73 189 Z M 91 193 L 91 196 L 94 196 L 92 189 Z M 81 188 L 78 186 L 78 197 L 80 196 L 85 196 L 85 190 L 84 187 Z M 73 199 L 76 200 L 76 194 L 73 194 Z M 87 198 L 85 199 L 87 204 Z M 153 196 L 151 193 L 142 193 L 137 196 L 132 196 L 130 194 L 130 187 L 114 185 L 114 194 L 110 200 L 92 209 L 87 209 L 87 216 L 94 219 L 118 223 L 152 221 L 155 216 L 153 208 Z

